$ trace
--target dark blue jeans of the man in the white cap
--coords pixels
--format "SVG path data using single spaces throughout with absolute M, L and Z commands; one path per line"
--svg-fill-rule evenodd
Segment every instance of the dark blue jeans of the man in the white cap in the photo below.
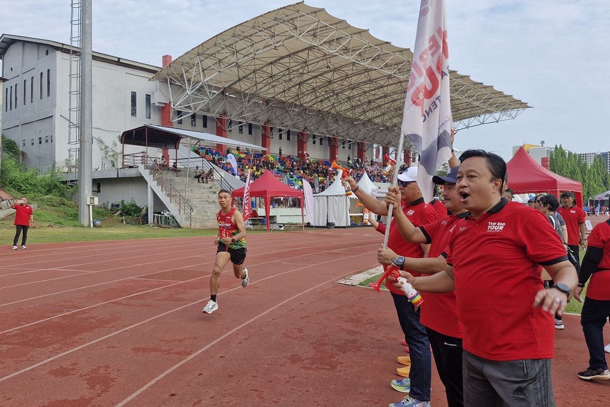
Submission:
M 394 306 L 398 314 L 400 327 L 403 328 L 404 340 L 409 345 L 411 356 L 411 392 L 410 395 L 422 402 L 430 401 L 432 381 L 432 356 L 426 328 L 419 322 L 419 310 L 415 312 L 413 304 L 404 295 L 392 293 Z

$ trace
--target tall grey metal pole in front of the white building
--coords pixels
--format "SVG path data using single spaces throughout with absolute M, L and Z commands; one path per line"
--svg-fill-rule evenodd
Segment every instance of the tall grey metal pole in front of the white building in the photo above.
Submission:
M 91 165 L 93 161 L 93 82 L 91 51 L 91 0 L 81 1 L 81 101 L 80 101 L 80 151 L 79 151 L 79 211 L 81 225 L 90 225 L 87 196 L 92 191 Z

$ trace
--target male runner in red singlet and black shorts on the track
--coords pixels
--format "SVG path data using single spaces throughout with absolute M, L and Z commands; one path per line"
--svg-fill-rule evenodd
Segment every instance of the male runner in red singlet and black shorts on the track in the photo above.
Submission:
M 210 278 L 210 300 L 203 308 L 205 314 L 212 314 L 218 309 L 216 294 L 220 286 L 220 273 L 229 261 L 233 263 L 235 278 L 242 279 L 242 287 L 248 286 L 250 282 L 248 269 L 242 267 L 246 259 L 246 226 L 243 224 L 242 213 L 231 206 L 231 192 L 226 189 L 218 192 L 218 204 L 220 204 L 220 211 L 216 215 L 218 238 L 214 240 L 218 251 Z

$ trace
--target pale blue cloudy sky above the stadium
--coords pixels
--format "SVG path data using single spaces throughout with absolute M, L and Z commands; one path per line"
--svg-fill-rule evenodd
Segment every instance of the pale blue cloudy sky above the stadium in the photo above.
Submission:
M 308 0 L 394 45 L 413 48 L 419 1 Z M 277 0 L 95 0 L 93 49 L 160 65 Z M 447 0 L 450 66 L 533 109 L 456 135 L 456 148 L 506 159 L 524 142 L 609 151 L 610 1 Z M 67 43 L 67 0 L 0 0 L 0 33 Z

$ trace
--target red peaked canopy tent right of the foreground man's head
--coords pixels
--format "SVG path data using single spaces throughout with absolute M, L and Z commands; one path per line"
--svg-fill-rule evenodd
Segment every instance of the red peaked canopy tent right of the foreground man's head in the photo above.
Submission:
M 515 193 L 547 192 L 559 197 L 570 191 L 576 195 L 576 206 L 583 207 L 583 185 L 542 167 L 521 147 L 506 163 L 508 187 Z

